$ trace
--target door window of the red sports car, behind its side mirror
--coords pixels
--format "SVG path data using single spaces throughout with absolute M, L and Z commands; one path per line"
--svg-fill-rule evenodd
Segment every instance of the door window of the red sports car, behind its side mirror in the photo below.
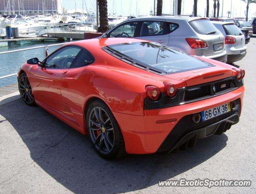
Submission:
M 44 61 L 45 67 L 67 69 L 80 51 L 81 48 L 76 46 L 66 46 L 61 48 Z

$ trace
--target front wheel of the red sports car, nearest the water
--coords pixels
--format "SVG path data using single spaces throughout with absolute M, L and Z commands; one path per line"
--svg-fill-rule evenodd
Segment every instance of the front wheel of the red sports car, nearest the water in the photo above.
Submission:
M 30 85 L 30 82 L 28 80 L 28 76 L 25 73 L 22 73 L 19 76 L 19 93 L 21 95 L 21 99 L 30 106 L 35 106 L 35 98 L 32 94 L 32 87 Z

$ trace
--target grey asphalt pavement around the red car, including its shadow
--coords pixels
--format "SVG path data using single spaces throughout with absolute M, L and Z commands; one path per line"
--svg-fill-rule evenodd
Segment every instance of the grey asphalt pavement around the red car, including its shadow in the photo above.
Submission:
M 0 193 L 256 193 L 256 38 L 236 63 L 246 70 L 240 122 L 177 154 L 100 158 L 85 137 L 20 99 L 0 106 Z M 251 187 L 159 187 L 168 179 L 249 179 Z

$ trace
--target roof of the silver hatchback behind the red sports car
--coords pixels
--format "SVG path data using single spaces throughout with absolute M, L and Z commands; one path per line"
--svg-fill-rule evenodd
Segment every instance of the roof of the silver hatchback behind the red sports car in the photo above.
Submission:
M 140 20 L 140 19 L 177 19 L 177 20 L 186 20 L 188 22 L 198 20 L 198 19 L 208 19 L 207 17 L 190 17 L 190 16 L 174 16 L 174 15 L 164 15 L 164 16 L 146 16 L 146 17 L 138 17 L 135 19 L 129 19 L 126 21 L 132 21 L 132 20 Z

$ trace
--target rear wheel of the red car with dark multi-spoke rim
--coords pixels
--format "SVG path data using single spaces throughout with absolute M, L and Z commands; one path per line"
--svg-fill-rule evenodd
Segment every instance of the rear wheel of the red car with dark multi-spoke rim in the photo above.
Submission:
M 102 101 L 94 101 L 89 105 L 86 127 L 94 150 L 102 158 L 116 159 L 126 153 L 119 125 L 109 107 Z

